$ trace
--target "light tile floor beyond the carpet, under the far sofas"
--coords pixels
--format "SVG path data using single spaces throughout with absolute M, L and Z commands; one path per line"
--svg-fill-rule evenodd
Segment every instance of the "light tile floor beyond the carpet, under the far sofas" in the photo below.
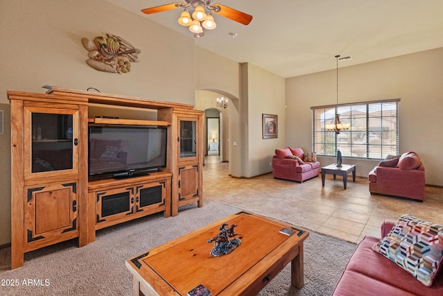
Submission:
M 443 224 L 443 189 L 426 186 L 424 202 L 371 195 L 368 180 L 348 176 L 343 189 L 340 176 L 326 175 L 303 183 L 274 179 L 272 173 L 251 179 L 228 175 L 228 163 L 208 156 L 204 166 L 204 198 L 233 204 L 247 211 L 358 243 L 365 235 L 380 237 L 384 219 L 409 213 Z

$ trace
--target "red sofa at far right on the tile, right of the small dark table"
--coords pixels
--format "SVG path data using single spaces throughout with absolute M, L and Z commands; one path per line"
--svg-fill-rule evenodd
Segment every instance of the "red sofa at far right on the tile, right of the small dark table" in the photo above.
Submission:
M 424 200 L 424 166 L 417 153 L 407 152 L 380 162 L 368 175 L 369 191 Z

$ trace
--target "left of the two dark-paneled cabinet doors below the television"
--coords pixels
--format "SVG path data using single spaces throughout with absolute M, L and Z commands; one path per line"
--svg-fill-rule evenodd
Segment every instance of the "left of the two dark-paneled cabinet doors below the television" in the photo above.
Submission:
M 96 224 L 125 218 L 134 214 L 134 186 L 96 193 Z

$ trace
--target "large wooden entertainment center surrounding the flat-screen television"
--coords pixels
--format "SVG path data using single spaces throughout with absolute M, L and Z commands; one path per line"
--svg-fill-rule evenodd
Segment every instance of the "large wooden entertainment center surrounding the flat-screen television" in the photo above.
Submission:
M 11 263 L 24 253 L 179 207 L 203 206 L 203 111 L 181 103 L 53 87 L 8 92 L 11 105 Z M 89 104 L 156 111 L 156 120 L 88 118 Z M 166 167 L 122 180 L 88 180 L 88 124 L 166 126 Z M 118 210 L 116 210 L 116 205 Z

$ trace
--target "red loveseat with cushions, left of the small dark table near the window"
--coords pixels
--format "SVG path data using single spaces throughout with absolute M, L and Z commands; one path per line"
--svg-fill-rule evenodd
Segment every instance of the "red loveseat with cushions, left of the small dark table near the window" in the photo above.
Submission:
M 272 175 L 276 179 L 303 182 L 320 174 L 320 162 L 313 153 L 305 154 L 302 148 L 275 149 L 272 158 Z

